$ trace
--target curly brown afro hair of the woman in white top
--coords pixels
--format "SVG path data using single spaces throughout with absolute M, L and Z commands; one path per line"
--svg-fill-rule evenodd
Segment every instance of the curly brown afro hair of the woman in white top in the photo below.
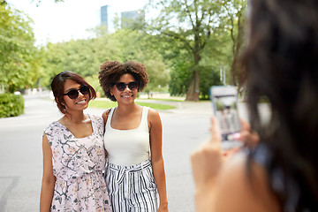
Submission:
M 110 95 L 110 89 L 118 82 L 123 74 L 131 74 L 138 83 L 138 91 L 142 91 L 148 84 L 148 74 L 143 64 L 127 61 L 124 64 L 117 61 L 106 61 L 101 64 L 98 79 L 105 95 L 113 102 L 116 98 Z

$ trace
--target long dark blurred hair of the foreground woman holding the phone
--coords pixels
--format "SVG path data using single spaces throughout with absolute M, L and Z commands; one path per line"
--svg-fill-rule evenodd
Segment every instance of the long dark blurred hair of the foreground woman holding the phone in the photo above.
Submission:
M 251 0 L 249 6 L 242 62 L 250 122 L 271 154 L 265 167 L 269 184 L 282 211 L 315 211 L 318 1 Z M 261 96 L 271 106 L 268 125 L 261 123 L 257 107 Z

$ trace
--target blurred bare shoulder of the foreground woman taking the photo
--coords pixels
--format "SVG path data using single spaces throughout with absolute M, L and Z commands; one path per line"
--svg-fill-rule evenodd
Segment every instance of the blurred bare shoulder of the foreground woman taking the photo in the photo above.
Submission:
M 266 170 L 253 162 L 248 171 L 245 155 L 234 155 L 224 164 L 216 181 L 216 211 L 278 212 L 266 176 Z

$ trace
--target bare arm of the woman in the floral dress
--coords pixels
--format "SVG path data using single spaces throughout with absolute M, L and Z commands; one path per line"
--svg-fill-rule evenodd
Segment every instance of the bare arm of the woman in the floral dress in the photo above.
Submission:
M 56 178 L 53 175 L 52 150 L 49 147 L 49 140 L 45 134 L 43 134 L 42 148 L 43 177 L 40 197 L 40 211 L 47 212 L 49 211 L 52 202 Z

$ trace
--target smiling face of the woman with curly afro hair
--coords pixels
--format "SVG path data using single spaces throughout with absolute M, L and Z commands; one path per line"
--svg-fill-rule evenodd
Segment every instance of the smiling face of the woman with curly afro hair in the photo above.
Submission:
M 124 82 L 125 84 L 129 84 L 130 82 L 135 81 L 133 75 L 126 73 L 123 74 L 117 82 Z M 125 87 L 124 91 L 118 91 L 116 85 L 111 87 L 110 95 L 114 95 L 118 104 L 125 103 L 129 104 L 134 102 L 135 98 L 137 97 L 138 89 L 131 90 L 128 86 Z

